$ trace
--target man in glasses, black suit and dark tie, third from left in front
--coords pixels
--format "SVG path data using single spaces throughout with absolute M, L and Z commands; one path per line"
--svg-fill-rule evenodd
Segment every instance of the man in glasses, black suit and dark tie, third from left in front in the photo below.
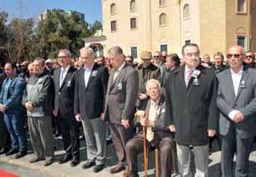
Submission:
M 59 161 L 64 164 L 71 160 L 71 166 L 80 161 L 79 132 L 74 115 L 74 91 L 76 81 L 76 68 L 71 66 L 71 52 L 66 49 L 58 53 L 58 63 L 61 68 L 53 72 L 55 88 L 54 116 L 57 117 L 62 134 L 62 141 L 66 155 Z

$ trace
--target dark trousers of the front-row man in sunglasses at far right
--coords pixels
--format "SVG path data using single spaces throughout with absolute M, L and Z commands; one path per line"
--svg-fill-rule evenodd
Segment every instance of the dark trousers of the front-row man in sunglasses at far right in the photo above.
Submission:
M 230 125 L 227 135 L 222 135 L 221 171 L 222 177 L 249 176 L 249 154 L 251 152 L 254 136 L 241 139 L 237 135 L 235 126 Z M 236 166 L 233 165 L 236 154 Z M 233 174 L 233 169 L 234 173 Z

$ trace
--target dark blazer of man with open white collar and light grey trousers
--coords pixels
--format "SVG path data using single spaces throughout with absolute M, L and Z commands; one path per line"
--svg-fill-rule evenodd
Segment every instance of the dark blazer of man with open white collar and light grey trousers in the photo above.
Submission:
M 85 70 L 77 71 L 75 86 L 75 114 L 80 114 L 81 119 L 94 119 L 104 112 L 108 71 L 105 66 L 94 64 L 91 76 L 85 86 Z

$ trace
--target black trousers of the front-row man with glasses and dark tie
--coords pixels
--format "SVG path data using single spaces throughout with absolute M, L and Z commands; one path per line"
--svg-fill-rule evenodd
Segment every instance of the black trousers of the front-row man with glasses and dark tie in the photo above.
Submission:
M 66 154 L 80 160 L 79 127 L 75 116 L 65 116 L 58 112 L 57 122 L 60 126 L 62 141 Z

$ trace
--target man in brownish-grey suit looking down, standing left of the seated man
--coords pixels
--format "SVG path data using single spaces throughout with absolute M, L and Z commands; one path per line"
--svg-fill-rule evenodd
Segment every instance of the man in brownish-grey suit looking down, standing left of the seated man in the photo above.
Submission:
M 108 51 L 111 65 L 110 79 L 106 92 L 105 116 L 110 122 L 113 145 L 119 160 L 111 168 L 111 174 L 125 170 L 126 142 L 133 134 L 132 119 L 138 96 L 138 72 L 128 66 L 121 47 L 111 47 Z

